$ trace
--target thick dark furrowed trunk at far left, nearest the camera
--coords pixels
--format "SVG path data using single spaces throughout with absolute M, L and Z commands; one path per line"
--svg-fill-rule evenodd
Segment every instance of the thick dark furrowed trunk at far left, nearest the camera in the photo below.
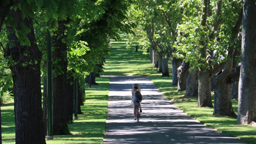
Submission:
M 45 144 L 40 77 L 42 53 L 35 42 L 33 21 L 27 18 L 23 20 L 19 9 L 10 10 L 10 15 L 18 24 L 15 28 L 17 31 L 23 31 L 20 23 L 30 29 L 26 36 L 31 43 L 30 46 L 21 46 L 15 33 L 9 29 L 9 43 L 4 55 L 17 62 L 10 66 L 13 74 L 15 142 Z

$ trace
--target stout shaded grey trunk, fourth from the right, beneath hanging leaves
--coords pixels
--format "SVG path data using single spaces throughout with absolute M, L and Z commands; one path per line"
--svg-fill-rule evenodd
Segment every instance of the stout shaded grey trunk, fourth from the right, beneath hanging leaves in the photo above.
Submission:
M 186 79 L 186 94 L 184 96 L 198 96 L 198 71 L 189 72 Z

